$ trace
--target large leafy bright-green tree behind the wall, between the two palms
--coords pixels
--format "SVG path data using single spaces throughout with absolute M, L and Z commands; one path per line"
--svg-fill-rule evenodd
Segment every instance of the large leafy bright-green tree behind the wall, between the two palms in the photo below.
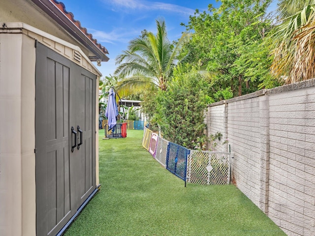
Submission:
M 211 80 L 212 94 L 230 87 L 234 96 L 272 87 L 272 78 L 264 83 L 271 60 L 268 48 L 259 53 L 261 43 L 271 29 L 267 7 L 271 0 L 221 0 L 218 8 L 196 10 L 186 26 L 192 31 L 183 52 L 190 52 L 189 63 L 200 61 L 203 68 L 217 73 Z M 252 60 L 251 60 L 252 59 Z

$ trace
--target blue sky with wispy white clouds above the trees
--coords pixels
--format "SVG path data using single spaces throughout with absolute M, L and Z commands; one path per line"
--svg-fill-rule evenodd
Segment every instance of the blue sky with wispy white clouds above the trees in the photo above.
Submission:
M 60 0 L 74 19 L 88 29 L 97 42 L 106 47 L 110 58 L 97 69 L 104 76 L 113 75 L 115 58 L 126 50 L 128 42 L 141 35 L 143 29 L 156 32 L 158 18 L 164 18 L 168 38 L 176 40 L 185 31 L 181 23 L 187 24 L 195 9 L 204 11 L 215 0 Z

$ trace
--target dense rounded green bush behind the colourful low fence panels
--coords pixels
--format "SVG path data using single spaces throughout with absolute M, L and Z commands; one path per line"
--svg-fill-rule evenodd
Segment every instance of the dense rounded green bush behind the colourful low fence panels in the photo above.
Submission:
M 190 72 L 176 67 L 167 89 L 159 90 L 156 96 L 156 114 L 163 137 L 173 143 L 193 148 L 196 137 L 203 138 L 205 93 L 209 83 L 198 71 Z

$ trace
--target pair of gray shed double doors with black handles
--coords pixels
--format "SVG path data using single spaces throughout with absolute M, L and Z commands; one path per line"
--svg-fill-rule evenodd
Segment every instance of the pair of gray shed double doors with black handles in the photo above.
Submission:
M 96 188 L 95 83 L 94 74 L 37 44 L 37 236 L 56 235 Z

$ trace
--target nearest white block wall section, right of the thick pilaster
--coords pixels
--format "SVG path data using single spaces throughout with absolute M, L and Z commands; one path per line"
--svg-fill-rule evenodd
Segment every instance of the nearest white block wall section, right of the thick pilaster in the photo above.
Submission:
M 315 235 L 315 88 L 270 93 L 269 217 Z

